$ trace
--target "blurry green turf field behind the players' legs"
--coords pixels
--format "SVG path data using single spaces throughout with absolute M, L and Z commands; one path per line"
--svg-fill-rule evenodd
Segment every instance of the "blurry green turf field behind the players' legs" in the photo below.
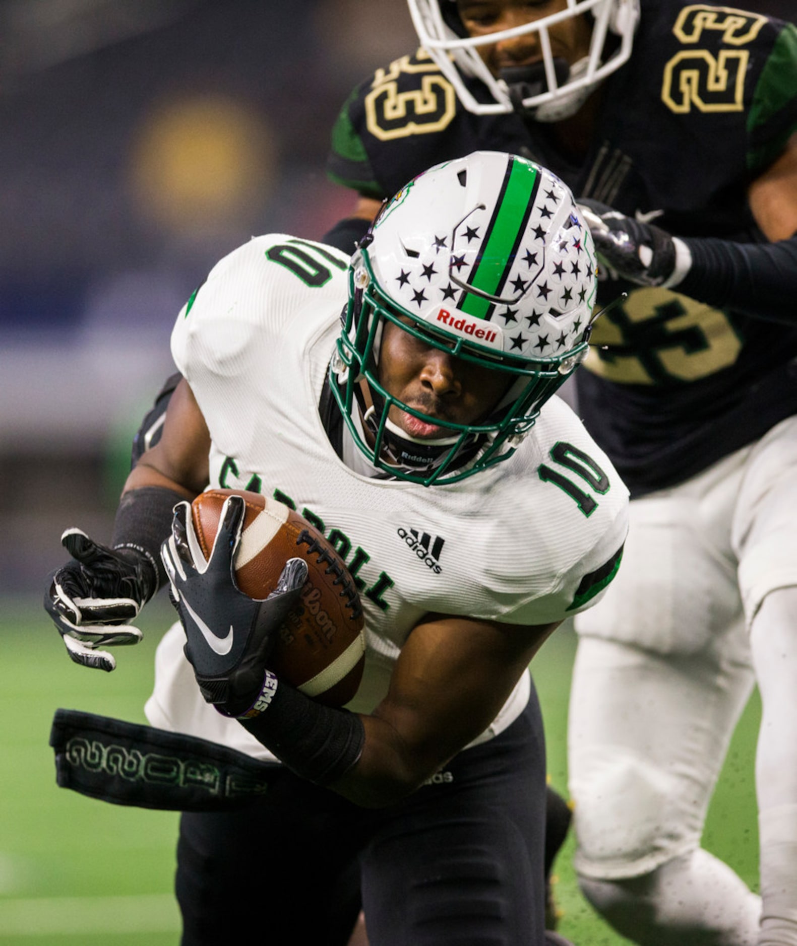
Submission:
M 171 620 L 152 604 L 145 641 L 116 651 L 113 674 L 66 657 L 39 602 L 0 600 L 0 943 L 4 946 L 176 946 L 171 896 L 177 815 L 121 808 L 59 789 L 50 722 L 58 707 L 146 722 L 152 655 Z M 534 663 L 545 714 L 548 769 L 566 785 L 564 732 L 574 635 L 560 630 Z M 731 747 L 706 828 L 705 844 L 757 884 L 753 743 L 759 707 L 746 711 Z M 560 932 L 576 946 L 625 942 L 579 896 L 572 839 L 559 857 Z

